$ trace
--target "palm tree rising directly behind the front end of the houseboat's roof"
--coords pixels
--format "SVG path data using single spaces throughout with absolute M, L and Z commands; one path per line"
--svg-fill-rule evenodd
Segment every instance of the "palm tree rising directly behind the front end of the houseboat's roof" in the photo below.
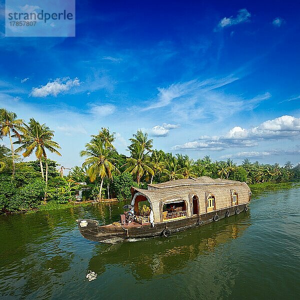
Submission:
M 136 182 L 139 185 L 140 178 L 144 172 L 150 173 L 154 176 L 154 171 L 151 169 L 151 161 L 149 151 L 146 151 L 143 144 L 130 145 L 131 157 L 126 159 L 126 172 L 136 174 Z

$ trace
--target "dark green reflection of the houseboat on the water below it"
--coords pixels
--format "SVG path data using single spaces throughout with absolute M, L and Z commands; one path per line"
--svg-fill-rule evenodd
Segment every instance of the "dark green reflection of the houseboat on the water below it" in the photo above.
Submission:
M 116 265 L 131 272 L 136 279 L 148 279 L 182 269 L 199 255 L 209 255 L 221 244 L 242 235 L 250 225 L 249 212 L 197 227 L 168 238 L 129 239 L 117 244 L 98 244 L 87 270 L 98 275 Z

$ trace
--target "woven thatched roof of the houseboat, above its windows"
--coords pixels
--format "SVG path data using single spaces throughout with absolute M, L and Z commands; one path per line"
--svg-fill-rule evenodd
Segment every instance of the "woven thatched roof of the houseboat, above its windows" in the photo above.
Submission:
M 202 176 L 198 178 L 178 179 L 158 184 L 148 184 L 150 189 L 132 187 L 132 195 L 139 193 L 147 197 L 150 203 L 160 201 L 169 197 L 180 197 L 195 192 L 205 192 L 207 190 L 222 190 L 226 186 L 230 189 L 239 186 L 239 189 L 249 190 L 245 182 L 227 179 L 212 179 Z

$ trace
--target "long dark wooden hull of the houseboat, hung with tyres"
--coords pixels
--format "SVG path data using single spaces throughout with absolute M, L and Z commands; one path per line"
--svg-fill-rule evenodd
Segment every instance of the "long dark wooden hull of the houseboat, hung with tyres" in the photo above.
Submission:
M 117 222 L 109 225 L 99 226 L 98 221 L 89 219 L 78 219 L 77 223 L 79 231 L 84 238 L 92 241 L 113 243 L 127 238 L 153 237 L 163 235 L 163 233 L 165 235 L 168 235 L 169 233 L 174 233 L 188 228 L 193 228 L 196 226 L 214 222 L 216 221 L 216 217 L 214 218 L 215 215 L 218 216 L 218 219 L 230 217 L 233 214 L 236 214 L 237 208 L 239 209 L 239 212 L 242 212 L 245 210 L 245 207 L 247 207 L 247 204 L 230 206 L 211 212 L 195 214 L 191 217 L 156 223 L 154 227 L 152 227 L 151 224 L 138 224 L 132 226 L 130 224 L 121 225 Z M 229 211 L 229 216 L 226 215 L 227 211 Z M 165 232 L 165 229 L 168 229 L 169 232 Z

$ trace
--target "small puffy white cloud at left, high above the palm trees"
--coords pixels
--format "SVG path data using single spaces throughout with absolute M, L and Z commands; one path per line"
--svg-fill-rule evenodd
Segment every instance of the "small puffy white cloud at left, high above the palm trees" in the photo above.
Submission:
M 33 87 L 30 95 L 33 97 L 57 96 L 57 94 L 65 93 L 74 86 L 79 86 L 80 83 L 77 77 L 74 79 L 70 79 L 69 77 L 56 78 L 54 81 L 49 81 L 45 85 Z

